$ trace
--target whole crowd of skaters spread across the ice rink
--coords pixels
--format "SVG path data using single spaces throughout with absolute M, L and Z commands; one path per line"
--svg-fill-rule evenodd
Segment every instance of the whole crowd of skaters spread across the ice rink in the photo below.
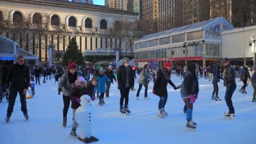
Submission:
M 158 95 L 159 106 L 158 106 L 158 116 L 165 117 L 167 112 L 165 111 L 165 105 L 167 102 L 167 83 L 169 83 L 175 90 L 181 88 L 181 97 L 184 101 L 184 113 L 187 115 L 187 124 L 186 127 L 189 129 L 196 129 L 196 123 L 192 120 L 193 113 L 193 103 L 198 97 L 199 93 L 199 83 L 198 79 L 204 78 L 212 81 L 213 92 L 212 99 L 219 101 L 221 100 L 218 97 L 218 82 L 220 79 L 224 79 L 224 86 L 226 86 L 225 101 L 226 105 L 229 108 L 228 112 L 225 112 L 225 116 L 234 118 L 235 110 L 232 105 L 232 94 L 236 89 L 236 76 L 239 77 L 240 81 L 243 81 L 244 85 L 240 88 L 241 93 L 246 93 L 245 89 L 248 86 L 249 81 L 251 81 L 254 88 L 253 93 L 253 102 L 256 102 L 256 73 L 251 75 L 249 71 L 251 70 L 247 65 L 243 67 L 234 67 L 230 63 L 229 58 L 223 59 L 223 67 L 219 65 L 209 65 L 208 67 L 200 67 L 197 63 L 190 63 L 184 67 L 177 67 L 173 69 L 177 76 L 183 79 L 182 85 L 176 86 L 171 81 L 172 65 L 170 62 L 166 62 L 164 67 L 152 69 L 148 64 L 145 64 L 143 68 L 135 67 L 134 65 L 129 65 L 129 59 L 124 58 L 124 64 L 120 65 L 119 69 L 115 69 L 112 65 L 76 65 L 74 62 L 69 62 L 68 66 L 53 66 L 53 67 L 44 67 L 44 66 L 34 66 L 26 67 L 28 74 L 22 76 L 21 79 L 26 79 L 26 81 L 33 81 L 35 78 L 36 85 L 40 85 L 40 78 L 44 77 L 43 83 L 46 81 L 55 78 L 55 84 L 58 82 L 58 93 L 59 95 L 62 92 L 63 95 L 63 127 L 66 127 L 67 123 L 67 112 L 69 109 L 70 102 L 72 103 L 73 117 L 75 115 L 75 109 L 80 105 L 79 98 L 83 94 L 90 95 L 91 99 L 99 99 L 99 105 L 104 105 L 104 95 L 109 98 L 109 88 L 111 83 L 118 82 L 118 89 L 120 90 L 120 112 L 121 113 L 130 113 L 129 110 L 129 92 L 135 91 L 133 88 L 135 83 L 134 80 L 139 76 L 138 84 L 139 88 L 137 89 L 136 99 L 139 99 L 139 94 L 144 86 L 144 99 L 148 100 L 147 90 L 149 87 L 150 81 L 153 81 L 153 93 Z M 24 68 L 25 64 L 24 58 L 19 57 L 18 63 L 10 67 L 9 71 L 6 66 L 1 66 L 1 75 L 0 75 L 0 86 L 1 90 L 0 95 L 1 101 L 5 92 L 5 97 L 9 101 L 9 91 L 11 89 L 11 84 L 8 83 L 11 81 L 10 74 L 14 70 L 19 70 L 22 66 Z M 90 75 L 92 78 L 90 80 Z M 136 76 L 137 75 L 137 76 Z M 27 76 L 30 77 L 30 80 L 27 80 Z M 8 80 L 5 80 L 6 77 L 9 77 Z M 33 79 L 32 79 L 33 78 Z M 60 79 L 61 78 L 61 79 Z M 60 79 L 60 81 L 59 81 Z M 90 81 L 89 81 L 90 80 Z M 11 103 L 8 105 L 7 122 L 10 120 L 10 116 L 13 110 L 15 103 L 15 98 L 19 92 L 20 97 L 22 97 L 22 112 L 24 116 L 28 119 L 27 110 L 26 110 L 26 99 L 24 100 L 24 94 L 27 87 L 31 86 L 31 83 L 28 82 L 24 86 L 24 89 L 14 89 L 12 93 Z M 23 88 L 23 87 L 22 87 Z M 7 91 L 8 90 L 8 91 Z M 14 95 L 14 96 L 13 96 Z M 23 95 L 23 96 L 21 96 Z M 125 103 L 124 103 L 125 102 Z M 73 119 L 73 127 L 71 130 L 71 135 L 76 136 L 75 130 L 77 128 L 77 123 Z

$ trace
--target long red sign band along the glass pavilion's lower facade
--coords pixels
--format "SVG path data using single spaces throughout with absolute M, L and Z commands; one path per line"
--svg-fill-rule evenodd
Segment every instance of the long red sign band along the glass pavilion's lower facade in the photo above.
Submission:
M 202 59 L 203 59 L 203 56 L 197 56 L 197 57 L 137 59 L 134 62 L 160 62 L 160 61 L 182 61 L 182 60 L 202 60 Z

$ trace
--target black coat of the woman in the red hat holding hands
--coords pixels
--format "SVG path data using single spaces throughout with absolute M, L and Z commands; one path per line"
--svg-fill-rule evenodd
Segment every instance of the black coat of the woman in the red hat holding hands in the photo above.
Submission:
M 163 72 L 164 69 L 164 72 Z M 176 87 L 174 83 L 171 81 L 171 73 L 166 73 L 165 68 L 161 68 L 158 71 L 158 76 L 156 76 L 153 90 L 155 90 L 155 95 L 158 95 L 159 97 L 167 97 L 167 83 L 170 83 L 170 85 L 174 88 Z

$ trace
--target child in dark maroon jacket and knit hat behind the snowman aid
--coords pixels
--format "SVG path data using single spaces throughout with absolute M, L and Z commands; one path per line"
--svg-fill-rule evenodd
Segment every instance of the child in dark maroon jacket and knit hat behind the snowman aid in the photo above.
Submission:
M 77 110 L 77 108 L 80 106 L 80 103 L 79 103 L 81 101 L 80 97 L 88 93 L 86 89 L 87 83 L 84 77 L 77 76 L 77 80 L 75 80 L 75 83 L 72 85 L 73 85 L 73 88 L 70 93 L 70 98 L 71 98 L 71 108 L 73 110 L 73 125 L 72 125 L 72 130 L 70 132 L 70 135 L 77 136 L 77 133 L 75 132 L 75 130 L 77 130 L 78 124 L 77 124 L 77 121 L 75 121 L 75 110 Z

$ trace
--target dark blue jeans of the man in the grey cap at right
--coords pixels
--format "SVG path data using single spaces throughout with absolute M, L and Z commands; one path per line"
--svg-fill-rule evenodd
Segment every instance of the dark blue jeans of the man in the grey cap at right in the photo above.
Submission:
M 236 90 L 236 83 L 234 84 L 234 86 L 226 87 L 225 101 L 226 101 L 226 105 L 229 107 L 229 113 L 235 113 L 235 109 L 231 100 L 235 90 Z

